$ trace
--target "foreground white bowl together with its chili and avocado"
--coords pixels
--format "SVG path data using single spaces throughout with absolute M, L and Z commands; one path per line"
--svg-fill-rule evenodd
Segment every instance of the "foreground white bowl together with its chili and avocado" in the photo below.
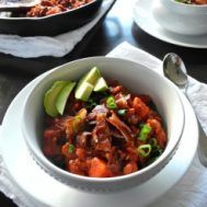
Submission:
M 182 102 L 170 81 L 106 57 L 49 71 L 26 97 L 22 119 L 26 145 L 47 173 L 95 192 L 154 176 L 175 153 L 183 126 Z

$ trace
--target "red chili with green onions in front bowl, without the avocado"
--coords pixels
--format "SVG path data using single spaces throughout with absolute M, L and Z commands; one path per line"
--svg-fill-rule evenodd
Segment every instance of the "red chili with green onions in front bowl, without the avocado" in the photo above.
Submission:
M 162 118 L 148 95 L 117 82 L 88 102 L 67 103 L 64 116 L 46 117 L 44 154 L 64 170 L 91 177 L 129 174 L 152 163 L 166 146 Z

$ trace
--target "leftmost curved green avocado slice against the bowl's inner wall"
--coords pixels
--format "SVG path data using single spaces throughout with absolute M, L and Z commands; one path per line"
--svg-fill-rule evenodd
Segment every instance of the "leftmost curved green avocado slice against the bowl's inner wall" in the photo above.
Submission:
M 44 96 L 45 111 L 51 117 L 55 117 L 58 115 L 58 111 L 55 105 L 56 99 L 59 92 L 64 89 L 64 87 L 67 85 L 67 83 L 68 81 L 56 81 L 54 82 L 51 88 L 45 93 L 45 96 Z

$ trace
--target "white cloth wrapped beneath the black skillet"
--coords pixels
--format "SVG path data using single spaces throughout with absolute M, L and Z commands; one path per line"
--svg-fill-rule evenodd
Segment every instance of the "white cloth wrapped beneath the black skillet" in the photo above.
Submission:
M 70 53 L 84 35 L 108 11 L 115 0 L 104 0 L 96 18 L 84 26 L 60 34 L 55 37 L 34 36 L 21 37 L 18 35 L 0 35 L 0 53 L 22 58 L 42 56 L 62 57 Z

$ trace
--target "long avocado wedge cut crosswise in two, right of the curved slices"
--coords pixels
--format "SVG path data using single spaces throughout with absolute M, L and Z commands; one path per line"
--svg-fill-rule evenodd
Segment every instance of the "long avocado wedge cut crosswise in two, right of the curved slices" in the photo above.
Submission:
M 97 67 L 93 67 L 87 74 L 84 74 L 80 81 L 78 82 L 78 85 L 74 91 L 74 97 L 87 101 L 92 93 L 91 89 L 94 88 L 96 81 L 101 78 L 101 72 L 97 69 Z M 87 84 L 88 83 L 88 84 Z M 93 90 L 93 89 L 92 89 Z M 85 94 L 90 92 L 90 94 Z M 83 97 L 81 96 L 83 95 Z

